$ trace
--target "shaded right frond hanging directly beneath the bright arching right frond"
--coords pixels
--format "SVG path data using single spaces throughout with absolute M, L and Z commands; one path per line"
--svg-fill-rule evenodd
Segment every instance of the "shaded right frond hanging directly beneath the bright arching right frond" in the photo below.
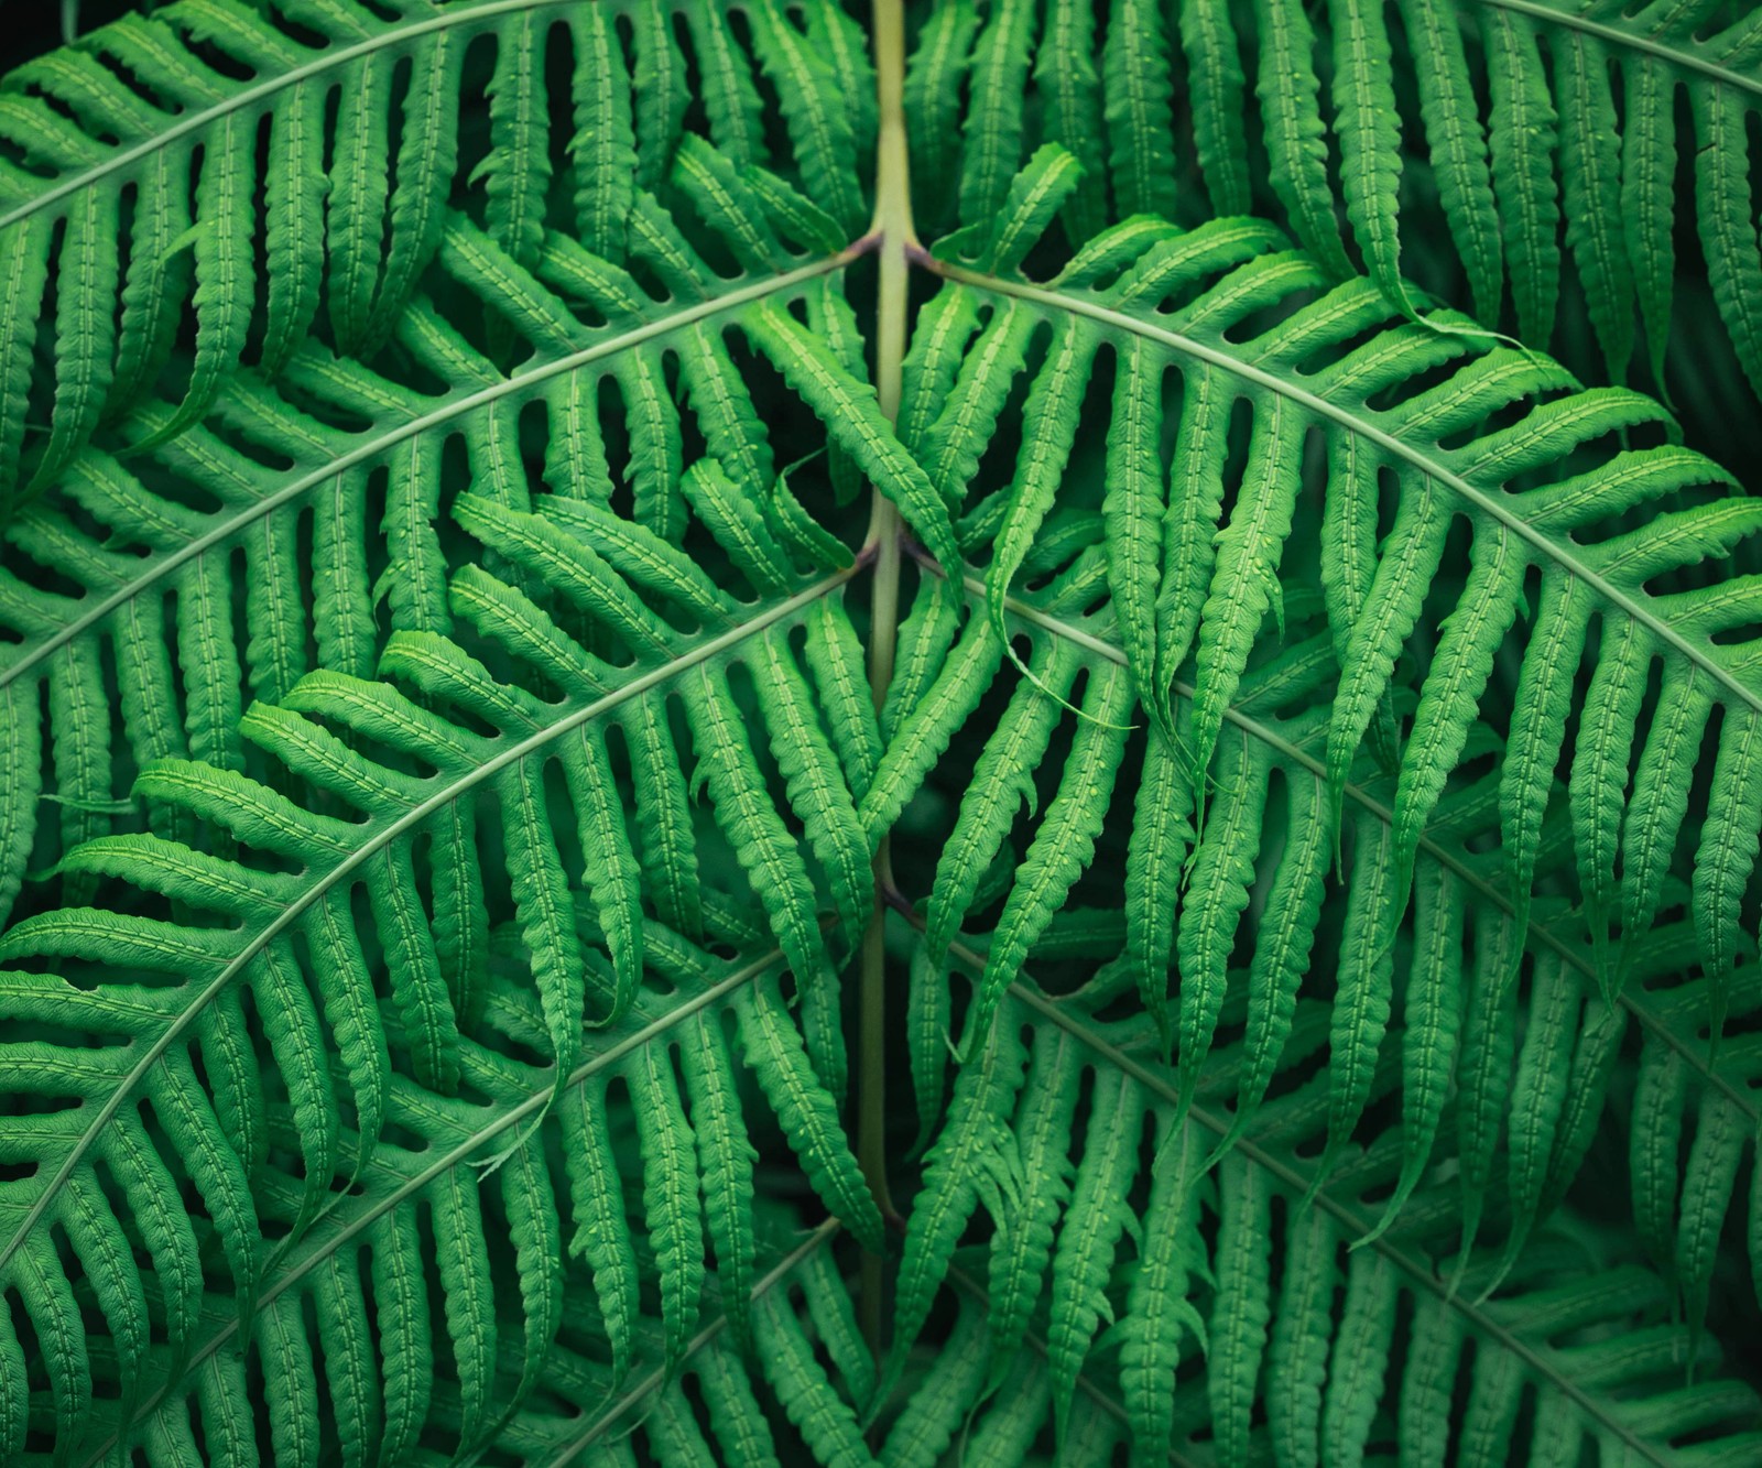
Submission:
M 951 670 L 962 664 L 964 647 L 994 643 L 987 624 L 978 617 L 981 583 L 976 575 L 969 576 L 967 594 L 974 617 L 950 657 Z M 1062 643 L 1064 657 L 1087 664 L 1092 670 L 1089 677 L 1098 677 L 1110 663 L 1119 666 L 1128 657 L 1112 641 L 1115 633 L 1107 608 L 1082 617 L 1061 608 L 1052 592 L 1011 597 L 1011 633 L 1033 638 L 1038 649 L 1033 654 L 1034 664 L 1047 666 L 1052 649 Z M 983 666 L 996 670 L 996 656 Z M 1503 1181 L 1512 1209 L 1508 1249 L 1515 1258 L 1529 1230 L 1565 1197 L 1607 1116 L 1610 1066 L 1630 1024 L 1639 1027 L 1647 1052 L 1656 1047 L 1656 1054 L 1674 1057 L 1693 1075 L 1697 1089 L 1706 1087 L 1709 1105 L 1716 1101 L 1730 1108 L 1736 1130 L 1727 1133 L 1730 1140 L 1721 1156 L 1736 1160 L 1743 1147 L 1739 1138 L 1748 1137 L 1762 1116 L 1753 1096 L 1750 1047 L 1732 1054 L 1721 1050 L 1718 1056 L 1709 1050 L 1713 1015 L 1707 1008 L 1697 1008 L 1709 1003 L 1709 980 L 1684 983 L 1681 999 L 1674 1003 L 1662 1003 L 1651 992 L 1655 983 L 1670 985 L 1683 973 L 1683 941 L 1692 936 L 1690 925 L 1677 918 L 1635 941 L 1630 955 L 1632 982 L 1614 1006 L 1607 1005 L 1598 985 L 1596 955 L 1582 922 L 1563 911 L 1558 899 L 1536 908 L 1508 895 L 1505 860 L 1496 841 L 1489 841 L 1498 830 L 1501 781 L 1498 767 L 1489 770 L 1482 763 L 1498 749 L 1485 728 L 1478 728 L 1471 738 L 1471 754 L 1482 772 L 1452 784 L 1433 812 L 1417 851 L 1417 904 L 1411 922 L 1390 925 L 1388 881 L 1394 864 L 1388 853 L 1396 832 L 1397 781 L 1381 774 L 1369 754 L 1360 758 L 1346 786 L 1344 834 L 1353 851 L 1351 879 L 1341 888 L 1330 888 L 1327 864 L 1334 823 L 1325 800 L 1325 698 L 1332 691 L 1332 678 L 1325 633 L 1314 633 L 1284 650 L 1262 650 L 1228 714 L 1221 742 L 1225 756 L 1216 767 L 1218 805 L 1198 841 L 1184 892 L 1177 892 L 1175 878 L 1182 853 L 1193 846 L 1193 830 L 1186 819 L 1191 793 L 1161 735 L 1152 728 L 1144 737 L 1144 765 L 1136 770 L 1138 790 L 1129 805 L 1124 797 L 1108 798 L 1105 788 L 1096 793 L 1091 777 L 1075 782 L 1105 812 L 1103 828 L 1114 834 L 1110 849 L 1121 864 L 1112 872 L 1105 862 L 1098 864 L 1098 871 L 1080 888 L 1124 902 L 1117 934 L 1101 936 L 1099 948 L 1085 950 L 1114 960 L 1105 971 L 1105 992 L 1114 996 L 1140 990 L 1145 1019 L 1163 1036 L 1158 1054 L 1166 1056 L 1170 1031 L 1179 1029 L 1177 1073 L 1182 1100 L 1207 1086 L 1233 1091 L 1233 1114 L 1225 1135 L 1207 1144 L 1210 1153 L 1205 1160 L 1230 1153 L 1249 1135 L 1281 1079 L 1293 1066 L 1302 1066 L 1302 1045 L 1293 1026 L 1300 1005 L 1307 1003 L 1307 985 L 1314 982 L 1306 982 L 1306 975 L 1314 975 L 1318 964 L 1332 973 L 1323 1087 L 1329 1145 L 1314 1174 L 1318 1179 L 1325 1179 L 1332 1161 L 1344 1154 L 1373 1108 L 1374 1096 L 1387 1086 L 1387 1079 L 1380 1079 L 1383 1070 L 1399 1057 L 1399 1177 L 1373 1237 L 1397 1223 L 1408 1198 L 1429 1174 L 1434 1154 L 1454 1138 L 1461 1163 L 1464 1248 L 1480 1234 L 1487 1191 Z M 966 717 L 966 710 L 983 693 L 985 682 L 976 682 L 967 684 L 959 698 L 927 700 L 920 715 L 906 724 L 883 758 L 876 788 L 885 790 L 890 782 L 890 763 L 895 758 L 916 760 L 914 751 L 922 744 L 946 740 L 948 730 Z M 1177 730 L 1189 728 L 1193 687 L 1177 682 L 1172 694 Z M 1025 678 L 1018 680 L 1010 691 L 1010 714 L 999 719 L 999 731 L 1011 717 L 1025 719 L 1036 707 L 1043 712 L 1054 708 L 1045 693 Z M 1099 733 L 1082 721 L 1066 723 L 1078 724 L 1073 749 L 1077 740 Z M 1048 742 L 1050 738 L 1052 733 Z M 981 758 L 980 770 L 983 768 Z M 1128 781 L 1131 774 L 1131 761 L 1121 760 L 1108 777 Z M 980 786 L 976 775 L 974 795 Z M 962 816 L 966 809 L 962 802 Z M 1034 844 L 1038 842 L 1036 834 Z M 1263 844 L 1270 848 L 1265 856 Z M 1538 834 L 1540 867 L 1552 872 L 1554 881 L 1572 871 L 1572 823 L 1556 805 L 1554 816 Z M 985 860 L 985 855 L 980 851 L 964 860 Z M 1017 867 L 1011 848 L 1004 848 L 1001 862 L 1006 871 Z M 943 876 L 939 871 L 937 879 Z M 1008 893 L 1004 911 L 1018 908 L 1018 892 L 1033 890 L 1033 883 L 1024 888 L 1024 881 L 1015 876 L 1003 885 Z M 966 909 L 971 916 L 997 901 L 996 890 L 992 895 L 974 890 Z M 1071 893 L 1064 901 L 1068 906 L 1078 899 Z M 1244 975 L 1237 955 L 1242 952 L 1240 930 L 1247 927 L 1244 915 L 1251 901 L 1253 946 Z M 1683 901 L 1679 886 L 1667 906 L 1679 913 Z M 923 1022 L 932 1034 L 955 1033 L 957 1010 L 948 997 L 934 994 L 930 976 L 946 973 L 948 959 L 941 955 L 951 953 L 959 941 L 983 941 L 983 973 L 973 1003 L 966 1006 L 964 1047 L 966 1068 L 980 1066 L 988 1075 L 997 1063 L 999 1042 L 996 1033 L 985 1040 L 985 1005 L 1001 1001 L 988 1001 L 987 990 L 1006 992 L 1020 973 L 1024 957 L 1033 960 L 1040 952 L 1050 960 L 1059 952 L 1059 943 L 1050 925 L 1041 929 L 1040 948 L 1033 943 L 1024 948 L 1020 936 L 1008 946 L 996 934 L 988 939 L 941 938 L 934 929 L 937 911 L 932 893 L 925 904 L 925 946 L 914 959 L 914 968 L 922 968 L 923 975 L 922 980 L 914 976 L 914 994 L 927 997 L 914 999 L 913 1012 L 918 1013 L 922 1005 Z M 948 925 L 966 918 L 950 911 L 941 922 Z M 969 930 L 974 925 L 969 923 Z M 1522 946 L 1535 953 L 1535 968 L 1533 978 L 1521 985 L 1517 971 Z M 1179 962 L 1173 962 L 1177 948 Z M 1004 962 L 999 962 L 999 953 L 1006 955 Z M 1173 996 L 1168 992 L 1172 971 L 1177 976 Z M 1751 966 L 1746 962 L 1730 982 L 1736 994 L 1751 994 Z M 1096 983 L 1101 985 L 1101 980 Z M 1003 990 L 994 985 L 1003 985 Z M 1521 992 L 1531 1017 L 1524 1031 L 1514 1029 Z M 1660 990 L 1669 992 L 1669 987 Z M 1230 1008 L 1226 996 L 1235 996 L 1228 999 Z M 1235 1005 L 1240 1008 L 1233 1008 Z M 1751 1006 L 1751 1001 L 1737 999 L 1734 1013 L 1748 1015 Z M 1179 1027 L 1161 1019 L 1170 1008 L 1179 1013 Z M 916 1026 L 918 1020 L 913 1022 L 914 1033 Z M 1214 1036 L 1235 1034 L 1237 1026 L 1242 1045 L 1228 1082 L 1209 1079 L 1218 1064 L 1209 1059 Z M 948 1056 L 939 1040 L 932 1043 L 927 1036 L 918 1042 L 914 1057 L 920 1107 L 934 1105 L 941 1098 Z M 959 1087 L 955 1094 L 960 1096 Z M 1507 1126 L 1510 1154 L 1508 1177 L 1503 1177 L 1498 1165 Z M 1665 1154 L 1665 1161 L 1658 1165 L 1669 1167 L 1662 1175 L 1676 1177 L 1674 1153 Z M 957 1174 L 966 1177 L 959 1197 L 967 1197 L 969 1207 L 978 1186 L 967 1177 L 973 1167 L 974 1163 L 964 1161 Z M 1013 1175 L 1017 1163 L 1011 1161 L 1010 1168 Z M 1055 1195 L 1054 1183 L 1045 1181 L 1057 1175 L 1055 1168 L 1027 1168 L 1025 1163 L 1022 1168 L 1027 1175 L 1041 1177 L 1041 1186 Z M 936 1175 L 932 1161 L 930 1177 Z M 1656 1188 L 1656 1183 L 1637 1174 L 1637 1207 L 1647 1186 Z M 1730 1191 L 1732 1179 L 1723 1195 L 1714 1191 L 1702 1204 L 1699 1228 L 1706 1228 L 1706 1209 L 1723 1214 Z M 934 1186 L 930 1197 L 937 1197 Z M 1034 1204 L 1024 1202 L 1024 1207 Z M 1660 1225 L 1651 1237 L 1655 1242 L 1663 1241 L 1662 1248 L 1674 1249 L 1670 1225 Z M 909 1260 L 907 1253 L 907 1271 Z M 1704 1269 L 1706 1262 L 1702 1248 L 1699 1267 Z M 913 1316 L 907 1313 L 902 1318 L 909 1322 Z

